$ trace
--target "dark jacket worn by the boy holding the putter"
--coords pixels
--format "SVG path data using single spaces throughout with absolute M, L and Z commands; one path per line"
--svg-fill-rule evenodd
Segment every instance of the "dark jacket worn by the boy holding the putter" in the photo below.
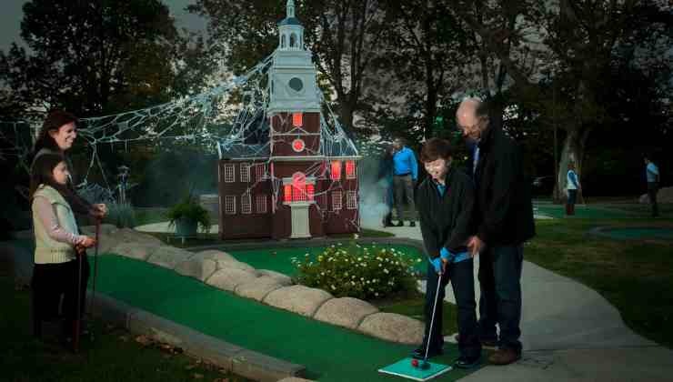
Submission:
M 444 246 L 453 253 L 467 250 L 466 242 L 474 235 L 475 190 L 472 179 L 461 170 L 449 168 L 447 190 L 439 196 L 432 177 L 418 186 L 416 207 L 427 256 L 436 258 Z

